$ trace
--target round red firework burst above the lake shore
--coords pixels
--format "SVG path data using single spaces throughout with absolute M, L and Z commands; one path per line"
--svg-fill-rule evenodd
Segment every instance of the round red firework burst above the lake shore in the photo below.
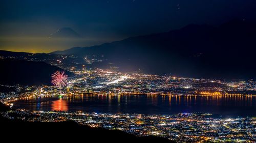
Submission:
M 52 74 L 52 83 L 56 87 L 63 87 L 67 84 L 68 82 L 68 75 L 65 74 L 65 71 L 56 71 L 55 73 Z

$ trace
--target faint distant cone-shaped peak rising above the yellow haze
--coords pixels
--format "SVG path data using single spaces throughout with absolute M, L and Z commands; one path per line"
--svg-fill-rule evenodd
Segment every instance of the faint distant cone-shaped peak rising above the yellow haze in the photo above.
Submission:
M 81 38 L 81 35 L 70 27 L 63 27 L 52 33 L 49 38 Z

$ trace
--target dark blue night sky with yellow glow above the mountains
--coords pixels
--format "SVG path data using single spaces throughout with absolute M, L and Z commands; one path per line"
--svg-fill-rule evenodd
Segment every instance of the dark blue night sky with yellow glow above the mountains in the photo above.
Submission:
M 50 52 L 130 36 L 167 32 L 187 24 L 255 20 L 254 0 L 0 1 L 0 49 Z M 47 38 L 70 27 L 75 38 Z

